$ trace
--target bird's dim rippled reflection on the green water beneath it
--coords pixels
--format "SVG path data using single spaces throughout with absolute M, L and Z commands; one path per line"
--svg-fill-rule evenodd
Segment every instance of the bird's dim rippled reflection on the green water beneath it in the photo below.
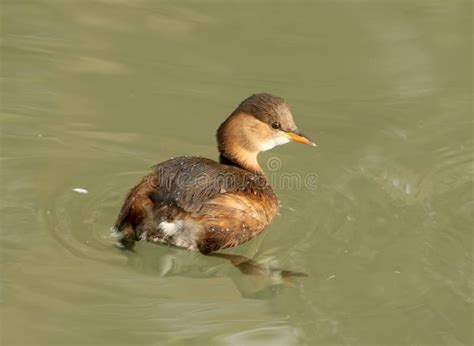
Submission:
M 128 258 L 128 265 L 134 271 L 170 279 L 196 279 L 185 285 L 187 290 L 193 292 L 195 284 L 200 281 L 197 287 L 208 287 L 211 296 L 217 290 L 229 289 L 222 286 L 231 284 L 242 297 L 263 299 L 272 296 L 277 289 L 297 287 L 300 280 L 307 276 L 303 272 L 278 268 L 268 256 L 251 259 L 249 252 L 252 251 L 247 251 L 245 256 L 223 252 L 206 256 L 199 252 L 149 243 L 140 243 L 134 251 L 123 251 Z M 221 287 L 217 290 L 216 282 Z

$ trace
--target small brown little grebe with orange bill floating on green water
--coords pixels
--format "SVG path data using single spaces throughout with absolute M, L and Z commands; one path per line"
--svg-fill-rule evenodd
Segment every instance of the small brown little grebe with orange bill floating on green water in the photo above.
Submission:
M 115 223 L 123 235 L 117 245 L 147 240 L 210 254 L 252 239 L 278 210 L 257 155 L 290 140 L 315 146 L 284 99 L 248 97 L 217 130 L 219 162 L 170 159 L 128 193 Z

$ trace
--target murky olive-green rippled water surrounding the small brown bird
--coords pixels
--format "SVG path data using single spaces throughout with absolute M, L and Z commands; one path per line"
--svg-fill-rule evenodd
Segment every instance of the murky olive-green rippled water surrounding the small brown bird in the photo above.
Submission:
M 473 343 L 470 1 L 1 14 L 3 344 Z M 260 155 L 281 215 L 230 252 L 309 277 L 114 248 L 126 191 L 171 156 L 215 158 L 217 126 L 258 91 L 287 98 L 318 147 Z

